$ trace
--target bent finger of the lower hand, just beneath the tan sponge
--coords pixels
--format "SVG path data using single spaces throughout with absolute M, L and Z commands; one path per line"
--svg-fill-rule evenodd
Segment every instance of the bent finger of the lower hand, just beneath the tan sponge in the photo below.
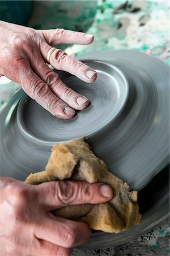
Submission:
M 48 213 L 37 225 L 34 234 L 41 240 L 54 243 L 65 248 L 82 245 L 88 240 L 91 230 L 84 222 L 75 222 L 64 218 L 55 217 Z

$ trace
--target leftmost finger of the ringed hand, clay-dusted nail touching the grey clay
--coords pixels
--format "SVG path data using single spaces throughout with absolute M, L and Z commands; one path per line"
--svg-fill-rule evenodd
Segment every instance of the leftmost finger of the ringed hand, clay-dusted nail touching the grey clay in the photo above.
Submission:
M 69 119 L 75 114 L 65 102 L 59 99 L 50 89 L 48 84 L 40 79 L 29 64 L 28 59 L 20 57 L 18 63 L 19 83 L 33 100 L 58 118 Z

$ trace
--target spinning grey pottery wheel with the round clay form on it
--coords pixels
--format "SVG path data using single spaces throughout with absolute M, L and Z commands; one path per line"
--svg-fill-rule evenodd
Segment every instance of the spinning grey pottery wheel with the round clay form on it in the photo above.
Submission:
M 55 143 L 87 136 L 109 170 L 139 191 L 143 214 L 141 224 L 128 232 L 94 232 L 83 246 L 91 249 L 131 240 L 168 216 L 169 68 L 135 51 L 94 52 L 78 59 L 98 76 L 87 84 L 56 71 L 67 86 L 90 100 L 73 119 L 53 117 L 23 90 L 3 106 L 1 176 L 24 180 L 45 169 Z

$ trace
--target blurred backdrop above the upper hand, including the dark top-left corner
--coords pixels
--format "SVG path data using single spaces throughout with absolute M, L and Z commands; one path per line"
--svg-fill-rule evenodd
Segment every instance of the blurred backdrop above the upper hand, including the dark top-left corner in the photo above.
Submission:
M 1 1 L 2 20 L 36 29 L 59 27 L 95 35 L 91 46 L 70 47 L 72 55 L 136 49 L 167 63 L 168 15 L 169 1 Z

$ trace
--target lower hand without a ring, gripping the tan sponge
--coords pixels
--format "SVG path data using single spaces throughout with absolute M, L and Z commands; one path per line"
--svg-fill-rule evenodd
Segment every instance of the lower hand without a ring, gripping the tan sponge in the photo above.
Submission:
M 50 210 L 67 204 L 104 203 L 113 193 L 100 183 L 50 181 L 28 185 L 1 178 L 0 195 L 0 255 L 66 256 L 71 248 L 87 241 L 91 230 L 84 222 L 53 216 Z

